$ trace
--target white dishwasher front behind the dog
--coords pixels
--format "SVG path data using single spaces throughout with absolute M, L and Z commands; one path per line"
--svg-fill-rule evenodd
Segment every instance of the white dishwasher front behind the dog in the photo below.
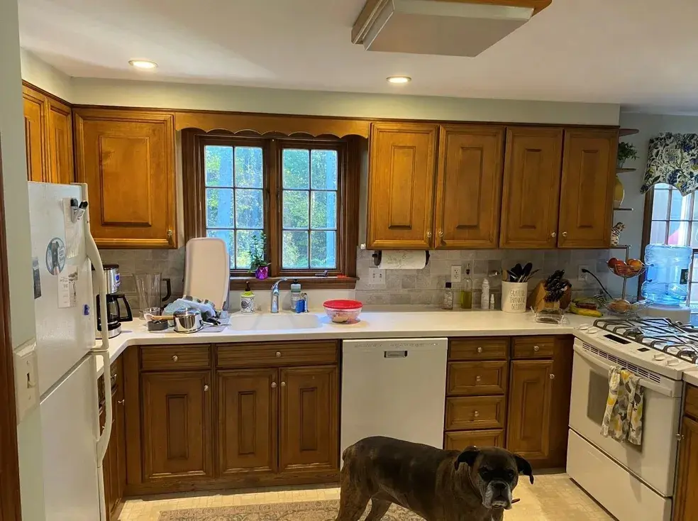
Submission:
M 448 339 L 342 344 L 342 452 L 367 436 L 443 448 Z

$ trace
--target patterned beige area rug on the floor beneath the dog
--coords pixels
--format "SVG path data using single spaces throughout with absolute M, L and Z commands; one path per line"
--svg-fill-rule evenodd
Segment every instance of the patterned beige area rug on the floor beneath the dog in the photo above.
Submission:
M 365 519 L 368 510 L 362 515 L 361 520 Z M 338 511 L 338 500 L 267 503 L 239 507 L 168 510 L 160 514 L 158 521 L 335 521 Z M 393 505 L 382 521 L 423 521 L 423 519 L 409 510 Z

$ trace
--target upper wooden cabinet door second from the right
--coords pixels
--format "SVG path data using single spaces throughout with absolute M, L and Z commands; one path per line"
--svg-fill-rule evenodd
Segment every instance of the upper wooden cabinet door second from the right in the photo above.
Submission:
M 563 129 L 506 131 L 502 192 L 502 248 L 555 248 Z

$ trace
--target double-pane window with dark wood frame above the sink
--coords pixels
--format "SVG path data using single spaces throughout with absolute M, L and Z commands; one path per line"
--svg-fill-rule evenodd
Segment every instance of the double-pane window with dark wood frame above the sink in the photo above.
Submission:
M 351 139 L 223 136 L 183 131 L 187 238 L 222 238 L 231 285 L 250 279 L 266 237 L 270 277 L 349 286 L 358 242 L 358 165 Z M 319 279 L 319 280 L 318 280 Z

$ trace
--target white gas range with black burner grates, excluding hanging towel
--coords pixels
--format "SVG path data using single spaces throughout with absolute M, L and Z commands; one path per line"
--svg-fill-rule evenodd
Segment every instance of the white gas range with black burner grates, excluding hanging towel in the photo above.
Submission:
M 599 319 L 575 339 L 567 473 L 620 521 L 670 521 L 683 390 L 698 328 L 668 319 Z M 601 434 L 609 369 L 645 388 L 641 446 Z

